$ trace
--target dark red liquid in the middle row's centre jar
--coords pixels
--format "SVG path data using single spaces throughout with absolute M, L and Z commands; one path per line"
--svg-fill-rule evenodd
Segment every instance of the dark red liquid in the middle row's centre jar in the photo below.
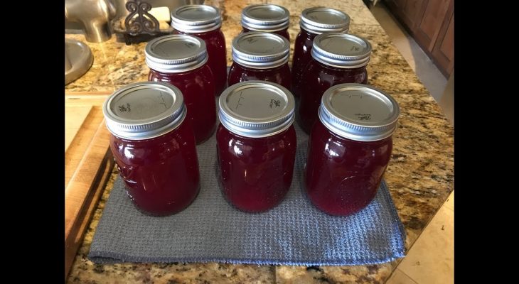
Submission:
M 232 62 L 229 70 L 229 86 L 238 82 L 262 80 L 274 82 L 290 89 L 291 75 L 288 63 L 271 69 L 252 69 Z

